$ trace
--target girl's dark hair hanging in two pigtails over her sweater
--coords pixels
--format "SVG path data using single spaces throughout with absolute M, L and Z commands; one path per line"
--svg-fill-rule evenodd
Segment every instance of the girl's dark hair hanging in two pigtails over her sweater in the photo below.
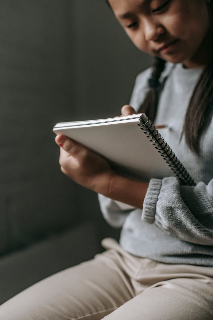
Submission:
M 108 6 L 108 0 L 105 0 Z M 213 12 L 213 3 L 209 4 Z M 148 79 L 149 91 L 144 102 L 139 108 L 141 113 L 146 113 L 148 118 L 153 122 L 156 117 L 157 106 L 160 92 L 163 89 L 166 79 L 160 83 L 159 79 L 165 67 L 164 60 L 154 58 L 152 74 Z M 204 68 L 189 102 L 183 125 L 187 146 L 199 154 L 199 145 L 201 133 L 213 106 L 213 59 Z

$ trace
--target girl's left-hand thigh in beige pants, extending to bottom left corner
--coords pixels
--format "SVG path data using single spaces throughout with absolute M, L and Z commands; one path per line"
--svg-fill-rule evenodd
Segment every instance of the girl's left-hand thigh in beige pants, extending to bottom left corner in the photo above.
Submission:
M 132 298 L 129 285 L 113 253 L 104 252 L 8 300 L 0 306 L 0 319 L 102 319 Z

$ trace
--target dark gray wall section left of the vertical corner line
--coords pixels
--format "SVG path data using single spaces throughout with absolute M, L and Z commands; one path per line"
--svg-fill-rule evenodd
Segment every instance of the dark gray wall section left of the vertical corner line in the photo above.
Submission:
M 4 253 L 71 224 L 76 204 L 51 132 L 72 97 L 70 1 L 1 1 L 0 14 Z

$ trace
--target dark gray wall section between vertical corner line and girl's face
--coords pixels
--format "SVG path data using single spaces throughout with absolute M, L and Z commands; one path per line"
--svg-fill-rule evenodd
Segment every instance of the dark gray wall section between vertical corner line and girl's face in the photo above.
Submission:
M 151 59 L 131 43 L 105 0 L 72 0 L 71 17 L 75 115 L 118 115 Z

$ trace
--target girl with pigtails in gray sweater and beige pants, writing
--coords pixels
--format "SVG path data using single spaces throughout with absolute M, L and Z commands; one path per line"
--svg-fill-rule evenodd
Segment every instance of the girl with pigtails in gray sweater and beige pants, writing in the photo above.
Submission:
M 213 4 L 108 5 L 133 43 L 155 57 L 121 114 L 145 112 L 165 124 L 165 140 L 197 184 L 129 180 L 58 135 L 62 172 L 99 193 L 105 219 L 122 226 L 120 243 L 105 239 L 107 251 L 4 303 L 0 319 L 213 319 Z

